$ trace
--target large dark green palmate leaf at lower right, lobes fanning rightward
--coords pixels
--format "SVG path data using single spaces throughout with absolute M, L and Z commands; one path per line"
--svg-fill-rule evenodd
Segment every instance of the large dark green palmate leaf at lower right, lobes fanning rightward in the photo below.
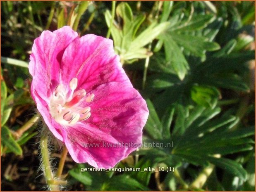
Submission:
M 179 129 L 182 128 L 180 125 L 184 127 L 183 133 L 182 131 L 177 131 L 179 130 L 178 128 L 177 130 L 174 128 L 172 132 L 174 148 L 171 156 L 176 156 L 182 161 L 194 165 L 207 166 L 208 162 L 210 162 L 220 168 L 224 168 L 224 164 L 217 165 L 218 159 L 214 161 L 216 159 L 214 158 L 213 161 L 210 161 L 209 159 L 213 158 L 211 156 L 253 149 L 252 144 L 254 144 L 254 141 L 247 137 L 254 135 L 254 128 L 230 130 L 238 122 L 237 117 L 224 114 L 221 118 L 216 118 L 216 115 L 220 113 L 219 108 L 211 109 L 198 106 L 190 109 L 189 115 L 186 115 L 187 109 L 185 106 L 179 105 L 179 108 L 177 112 L 175 111 L 175 126 Z M 181 112 L 183 114 L 180 114 Z M 229 166 L 230 173 L 244 179 L 244 169 L 241 165 L 229 159 L 226 164 Z M 237 165 L 239 167 L 236 167 Z

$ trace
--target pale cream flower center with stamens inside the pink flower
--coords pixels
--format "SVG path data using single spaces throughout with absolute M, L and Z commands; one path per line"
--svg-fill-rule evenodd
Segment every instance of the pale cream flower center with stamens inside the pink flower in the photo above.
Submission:
M 84 89 L 77 88 L 77 78 L 69 82 L 70 89 L 57 85 L 50 99 L 50 114 L 60 124 L 72 125 L 77 121 L 84 121 L 91 116 L 90 107 L 81 107 L 82 103 L 92 102 L 94 94 L 86 95 Z

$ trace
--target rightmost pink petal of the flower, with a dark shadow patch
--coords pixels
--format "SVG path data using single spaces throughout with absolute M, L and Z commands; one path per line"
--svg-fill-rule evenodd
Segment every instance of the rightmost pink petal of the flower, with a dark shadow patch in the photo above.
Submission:
M 91 117 L 86 121 L 117 141 L 132 144 L 124 157 L 128 156 L 141 145 L 142 128 L 148 119 L 145 100 L 127 83 L 106 83 L 91 93 L 95 96 L 89 105 Z

